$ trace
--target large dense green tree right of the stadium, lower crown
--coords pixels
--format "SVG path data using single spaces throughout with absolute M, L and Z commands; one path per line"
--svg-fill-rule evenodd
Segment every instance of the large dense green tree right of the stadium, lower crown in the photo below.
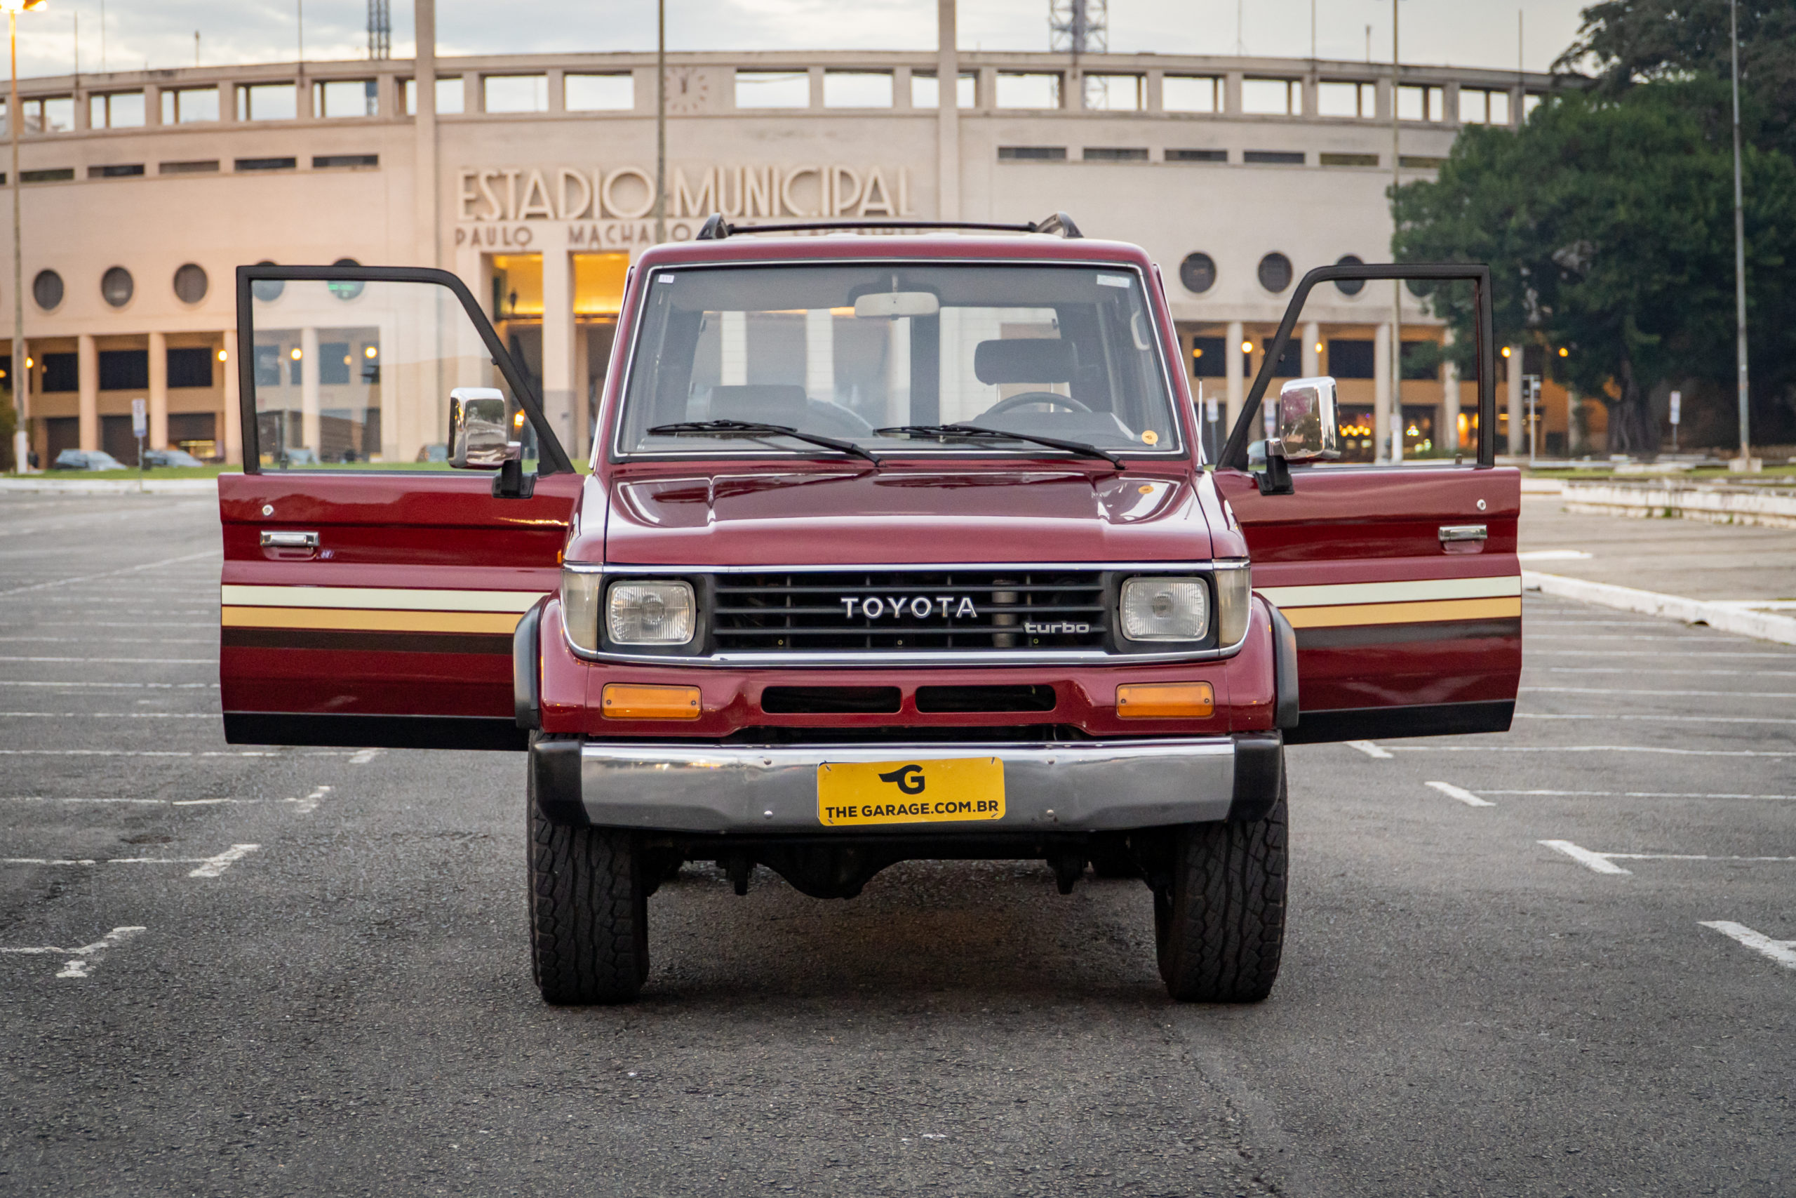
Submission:
M 1658 451 L 1661 381 L 1733 377 L 1733 158 L 1717 102 L 1713 81 L 1564 93 L 1518 131 L 1467 128 L 1435 181 L 1394 194 L 1397 259 L 1489 262 L 1500 343 L 1548 345 L 1552 375 L 1609 408 L 1616 453 Z M 1755 392 L 1780 395 L 1796 350 L 1796 169 L 1751 149 L 1746 192 Z M 1462 354 L 1469 304 L 1433 300 Z

